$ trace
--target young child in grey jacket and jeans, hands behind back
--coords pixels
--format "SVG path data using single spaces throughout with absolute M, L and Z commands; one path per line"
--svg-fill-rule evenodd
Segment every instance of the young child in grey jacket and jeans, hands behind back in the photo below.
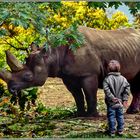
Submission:
M 120 73 L 120 63 L 111 60 L 108 64 L 108 75 L 103 81 L 109 134 L 115 136 L 116 121 L 117 134 L 122 135 L 124 129 L 123 106 L 127 107 L 130 91 L 129 83 Z

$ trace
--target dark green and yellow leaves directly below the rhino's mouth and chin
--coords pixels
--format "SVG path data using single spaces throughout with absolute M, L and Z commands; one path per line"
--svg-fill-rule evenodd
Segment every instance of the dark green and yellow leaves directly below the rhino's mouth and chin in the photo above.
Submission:
M 6 89 L 6 83 L 0 80 L 0 106 L 7 105 L 14 108 L 13 105 L 17 105 L 21 111 L 30 110 L 31 106 L 35 106 L 37 99 L 38 88 L 28 88 L 22 90 L 17 96 L 10 94 Z M 12 112 L 13 113 L 13 112 Z

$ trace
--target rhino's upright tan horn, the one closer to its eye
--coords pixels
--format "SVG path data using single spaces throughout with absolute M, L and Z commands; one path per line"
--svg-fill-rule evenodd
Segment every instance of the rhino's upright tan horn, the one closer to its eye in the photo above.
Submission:
M 23 69 L 23 65 L 16 59 L 16 57 L 10 53 L 9 50 L 5 51 L 6 53 L 6 61 L 12 71 L 20 71 Z

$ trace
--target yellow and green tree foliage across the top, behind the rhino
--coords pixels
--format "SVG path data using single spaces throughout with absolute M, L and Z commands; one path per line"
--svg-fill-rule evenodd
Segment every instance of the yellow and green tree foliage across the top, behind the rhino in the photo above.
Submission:
M 113 4 L 116 6 L 121 3 L 0 3 L 1 47 L 7 49 L 9 46 L 16 50 L 28 51 L 27 48 L 33 41 L 37 44 L 43 44 L 43 42 L 46 42 L 46 25 L 47 28 L 53 30 L 52 32 L 58 32 L 60 36 L 64 35 L 65 31 L 63 32 L 63 30 L 75 22 L 100 29 L 127 26 L 128 19 L 123 14 L 115 18 L 114 22 L 113 18 L 109 19 L 107 17 L 104 10 L 107 6 L 111 7 Z M 60 33 L 60 30 L 62 30 L 62 33 Z M 61 41 L 59 44 L 61 44 Z M 67 40 L 64 42 L 67 42 Z M 21 59 L 23 60 L 23 58 Z

